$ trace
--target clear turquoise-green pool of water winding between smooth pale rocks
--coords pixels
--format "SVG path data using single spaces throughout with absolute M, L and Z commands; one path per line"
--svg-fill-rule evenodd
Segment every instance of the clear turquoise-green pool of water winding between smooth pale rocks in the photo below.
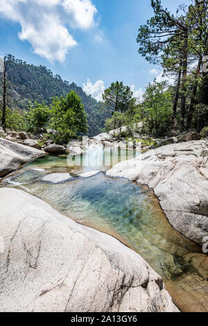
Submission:
M 87 170 L 90 169 L 88 166 Z M 164 277 L 168 290 L 179 305 L 187 304 L 187 295 L 191 295 L 191 309 L 193 298 L 195 307 L 205 301 L 208 278 L 206 280 L 190 259 L 190 255 L 195 259 L 204 255 L 198 246 L 184 239 L 169 225 L 153 192 L 125 179 L 107 178 L 105 172 L 91 178 L 76 177 L 56 185 L 41 180 L 50 173 L 74 173 L 75 170 L 87 171 L 82 166 L 76 169 L 68 166 L 64 155 L 44 156 L 9 175 L 1 185 L 28 191 L 78 223 L 123 241 Z M 195 286 L 191 285 L 193 280 Z M 199 291 L 196 284 L 203 284 L 207 292 Z M 181 286 L 184 293 L 180 293 Z

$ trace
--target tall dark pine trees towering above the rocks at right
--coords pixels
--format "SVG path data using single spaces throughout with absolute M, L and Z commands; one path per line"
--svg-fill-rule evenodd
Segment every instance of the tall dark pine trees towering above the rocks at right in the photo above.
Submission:
M 208 105 L 208 72 L 202 69 L 208 55 L 208 0 L 180 6 L 177 15 L 163 8 L 160 0 L 151 4 L 154 16 L 140 26 L 137 36 L 139 53 L 175 78 L 173 116 L 180 129 L 199 131 L 208 122 L 204 108 L 198 108 Z

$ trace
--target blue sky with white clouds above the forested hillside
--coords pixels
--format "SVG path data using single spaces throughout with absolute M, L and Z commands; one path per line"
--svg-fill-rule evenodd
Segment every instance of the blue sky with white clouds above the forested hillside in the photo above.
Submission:
M 173 11 L 182 2 L 162 0 Z M 138 95 L 161 73 L 137 52 L 150 0 L 0 0 L 0 15 L 0 55 L 45 65 L 96 98 L 115 80 Z

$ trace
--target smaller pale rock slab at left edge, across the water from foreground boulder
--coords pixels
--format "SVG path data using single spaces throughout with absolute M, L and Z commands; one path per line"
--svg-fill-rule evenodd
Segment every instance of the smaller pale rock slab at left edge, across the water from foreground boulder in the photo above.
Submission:
M 27 147 L 0 138 L 0 177 L 18 169 L 21 164 L 42 154 L 44 152 L 36 148 Z

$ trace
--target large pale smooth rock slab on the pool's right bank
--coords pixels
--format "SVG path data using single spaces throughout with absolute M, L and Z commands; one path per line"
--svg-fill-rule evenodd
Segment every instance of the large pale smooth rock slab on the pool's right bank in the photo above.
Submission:
M 208 140 L 171 144 L 116 164 L 107 175 L 154 189 L 171 225 L 202 245 L 208 236 Z

